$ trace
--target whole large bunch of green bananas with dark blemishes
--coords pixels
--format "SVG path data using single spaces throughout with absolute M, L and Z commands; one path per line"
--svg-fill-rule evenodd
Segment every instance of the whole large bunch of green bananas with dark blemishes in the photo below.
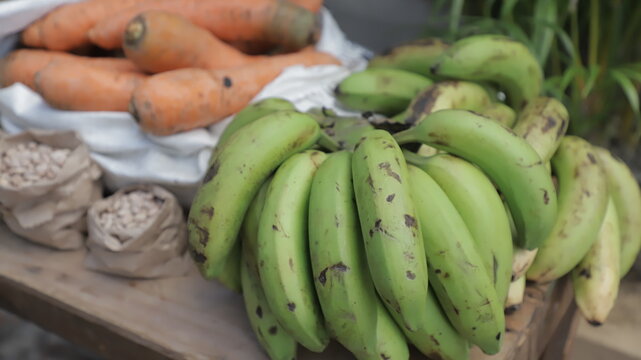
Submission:
M 190 209 L 194 261 L 242 292 L 272 359 L 330 338 L 358 359 L 407 359 L 408 344 L 495 354 L 526 277 L 572 273 L 602 323 L 641 247 L 641 192 L 607 150 L 565 134 L 541 83 L 522 44 L 473 36 L 402 45 L 348 76 L 337 99 L 362 116 L 248 106 Z

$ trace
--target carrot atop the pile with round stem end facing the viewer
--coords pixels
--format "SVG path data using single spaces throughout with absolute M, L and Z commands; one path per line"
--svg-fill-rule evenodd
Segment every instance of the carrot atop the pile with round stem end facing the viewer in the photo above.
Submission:
M 187 67 L 227 69 L 261 59 L 243 54 L 180 15 L 157 10 L 129 22 L 123 49 L 127 58 L 151 73 Z

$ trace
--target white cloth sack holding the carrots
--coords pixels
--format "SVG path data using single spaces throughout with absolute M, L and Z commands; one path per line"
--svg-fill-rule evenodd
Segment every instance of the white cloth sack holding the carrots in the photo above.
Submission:
M 73 0 L 9 0 L 0 2 L 0 57 L 17 43 L 17 32 L 55 6 Z M 343 66 L 293 66 L 266 86 L 253 101 L 281 97 L 298 110 L 335 107 L 332 91 L 351 71 L 363 69 L 371 53 L 350 42 L 336 21 L 322 10 L 323 30 L 316 48 L 336 56 Z M 15 134 L 26 129 L 75 130 L 92 158 L 103 168 L 105 185 L 116 190 L 137 183 L 161 185 L 188 205 L 207 170 L 207 160 L 229 117 L 209 129 L 157 137 L 140 130 L 126 112 L 62 111 L 51 108 L 18 83 L 0 89 L 0 122 Z

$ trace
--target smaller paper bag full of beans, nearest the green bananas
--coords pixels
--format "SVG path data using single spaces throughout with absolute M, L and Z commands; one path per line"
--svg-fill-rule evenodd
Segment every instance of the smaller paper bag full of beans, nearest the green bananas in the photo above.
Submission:
M 193 269 L 182 208 L 159 186 L 130 186 L 94 203 L 87 227 L 89 269 L 132 278 L 181 276 Z

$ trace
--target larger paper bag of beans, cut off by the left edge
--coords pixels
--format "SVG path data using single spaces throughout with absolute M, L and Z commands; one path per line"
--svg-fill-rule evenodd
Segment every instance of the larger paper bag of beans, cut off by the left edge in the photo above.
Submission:
M 0 212 L 26 239 L 60 250 L 81 248 L 87 209 L 102 197 L 100 174 L 72 131 L 0 137 Z

